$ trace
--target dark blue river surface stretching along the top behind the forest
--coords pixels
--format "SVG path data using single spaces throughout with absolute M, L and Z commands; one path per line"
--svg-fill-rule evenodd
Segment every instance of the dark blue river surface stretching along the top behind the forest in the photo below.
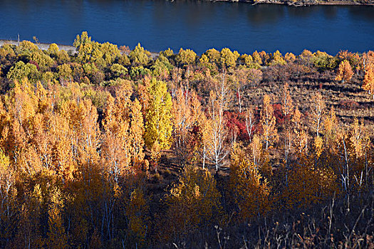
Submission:
M 149 51 L 224 47 L 299 54 L 374 50 L 373 6 L 309 6 L 207 1 L 0 0 L 0 38 L 71 45 L 93 40 Z

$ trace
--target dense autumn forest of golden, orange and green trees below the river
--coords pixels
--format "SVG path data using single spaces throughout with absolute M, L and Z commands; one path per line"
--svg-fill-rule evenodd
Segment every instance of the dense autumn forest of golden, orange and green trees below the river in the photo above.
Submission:
M 318 90 L 303 106 L 287 83 L 258 96 L 261 105 L 244 94 L 325 71 L 336 84 L 359 78 L 373 94 L 373 52 L 155 56 L 85 32 L 74 46 L 75 55 L 28 41 L 0 48 L 1 248 L 223 248 L 221 228 L 331 198 L 346 217 L 358 212 L 355 233 L 331 213 L 296 238 L 243 233 L 232 246 L 373 245 L 368 122 L 343 125 Z

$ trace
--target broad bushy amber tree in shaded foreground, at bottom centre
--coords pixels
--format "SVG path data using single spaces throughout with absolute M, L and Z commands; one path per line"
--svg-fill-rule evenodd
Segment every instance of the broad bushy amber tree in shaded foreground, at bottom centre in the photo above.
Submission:
M 216 180 L 206 169 L 186 166 L 167 195 L 167 226 L 172 234 L 209 226 L 222 216 Z

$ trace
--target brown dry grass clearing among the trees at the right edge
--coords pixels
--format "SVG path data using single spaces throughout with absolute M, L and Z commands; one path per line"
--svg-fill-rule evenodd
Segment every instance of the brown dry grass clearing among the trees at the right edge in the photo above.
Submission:
M 361 88 L 363 75 L 354 75 L 350 82 L 344 84 L 334 78 L 333 72 L 314 72 L 280 82 L 264 78 L 264 82 L 258 87 L 246 89 L 243 99 L 247 105 L 252 107 L 259 107 L 265 94 L 274 95 L 275 100 L 279 101 L 284 83 L 289 83 L 290 95 L 301 112 L 308 112 L 309 103 L 316 92 L 320 91 L 328 109 L 332 106 L 335 108 L 336 116 L 341 124 L 348 125 L 356 117 L 358 120 L 364 120 L 368 130 L 373 131 L 374 100 L 372 95 L 368 95 L 368 92 Z M 237 103 L 234 103 L 233 110 L 239 110 Z M 373 132 L 371 136 L 374 136 Z

